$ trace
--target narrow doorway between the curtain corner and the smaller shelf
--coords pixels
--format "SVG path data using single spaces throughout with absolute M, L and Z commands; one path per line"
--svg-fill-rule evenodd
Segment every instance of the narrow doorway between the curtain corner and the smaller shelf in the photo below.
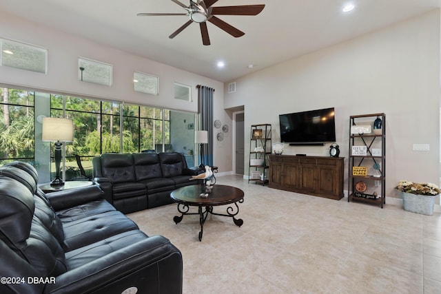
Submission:
M 244 160 L 245 160 L 245 147 L 244 147 L 244 118 L 243 111 L 233 113 L 234 123 L 234 173 L 238 175 L 244 174 Z

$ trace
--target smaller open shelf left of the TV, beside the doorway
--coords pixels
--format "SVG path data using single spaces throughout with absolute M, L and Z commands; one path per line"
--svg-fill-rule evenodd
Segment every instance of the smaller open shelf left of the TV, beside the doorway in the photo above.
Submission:
M 248 182 L 254 181 L 263 186 L 269 182 L 269 156 L 271 156 L 271 125 L 264 123 L 251 126 L 249 143 Z

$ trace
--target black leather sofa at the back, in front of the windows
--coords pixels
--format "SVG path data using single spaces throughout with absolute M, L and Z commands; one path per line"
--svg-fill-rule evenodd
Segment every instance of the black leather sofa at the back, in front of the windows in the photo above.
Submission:
M 189 169 L 185 157 L 176 152 L 106 153 L 94 157 L 92 166 L 105 199 L 123 213 L 173 203 L 174 189 L 201 183 L 189 180 L 201 169 Z

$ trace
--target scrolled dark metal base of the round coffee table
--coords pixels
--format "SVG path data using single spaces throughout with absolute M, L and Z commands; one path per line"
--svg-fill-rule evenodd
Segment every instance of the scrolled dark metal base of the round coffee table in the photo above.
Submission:
M 237 203 L 242 203 L 243 202 L 243 198 L 238 200 L 237 202 L 234 202 L 234 207 L 227 207 L 227 214 L 223 214 L 223 213 L 214 213 L 213 212 L 213 207 L 212 206 L 205 206 L 205 210 L 203 206 L 198 206 L 198 212 L 193 212 L 190 213 L 189 211 L 189 205 L 187 204 L 181 204 L 178 203 L 178 211 L 181 213 L 181 216 L 175 216 L 173 218 L 174 222 L 176 224 L 178 224 L 179 222 L 182 221 L 182 219 L 184 218 L 184 216 L 187 215 L 191 215 L 191 214 L 198 214 L 199 215 L 199 223 L 201 224 L 201 231 L 199 232 L 199 241 L 202 241 L 202 235 L 203 235 L 203 229 L 204 229 L 204 224 L 205 224 L 205 220 L 207 220 L 207 216 L 208 213 L 214 215 L 214 216 L 227 216 L 229 218 L 233 218 L 233 222 L 234 224 L 236 224 L 236 226 L 240 227 L 243 225 L 243 220 L 241 218 L 235 218 L 235 216 L 237 216 L 237 214 L 239 213 L 239 207 Z

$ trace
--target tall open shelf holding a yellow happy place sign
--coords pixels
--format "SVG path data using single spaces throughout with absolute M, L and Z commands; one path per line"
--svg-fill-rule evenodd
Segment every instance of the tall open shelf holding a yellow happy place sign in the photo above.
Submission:
M 348 202 L 386 203 L 385 129 L 384 113 L 350 116 Z

